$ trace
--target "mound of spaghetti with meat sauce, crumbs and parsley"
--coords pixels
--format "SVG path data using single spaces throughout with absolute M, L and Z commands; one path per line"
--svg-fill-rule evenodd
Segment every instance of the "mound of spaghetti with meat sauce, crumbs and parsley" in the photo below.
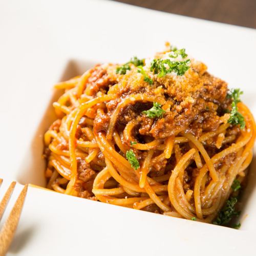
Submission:
M 154 59 L 97 65 L 55 85 L 64 92 L 45 134 L 48 188 L 166 216 L 217 218 L 234 180 L 247 175 L 255 123 L 224 81 L 166 46 Z

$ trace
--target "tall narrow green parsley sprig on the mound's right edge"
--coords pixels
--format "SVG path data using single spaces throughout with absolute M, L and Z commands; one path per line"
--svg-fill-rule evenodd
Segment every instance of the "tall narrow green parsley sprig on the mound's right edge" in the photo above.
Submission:
M 243 92 L 240 89 L 232 89 L 229 94 L 227 94 L 228 98 L 231 98 L 233 101 L 231 103 L 231 112 L 230 117 L 228 119 L 228 123 L 233 125 L 240 125 L 241 129 L 245 127 L 245 120 L 241 113 L 238 112 L 238 102 L 240 102 L 240 95 Z

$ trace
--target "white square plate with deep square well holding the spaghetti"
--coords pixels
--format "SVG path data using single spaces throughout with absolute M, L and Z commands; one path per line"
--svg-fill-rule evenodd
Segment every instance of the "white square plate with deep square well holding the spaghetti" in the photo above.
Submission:
M 102 0 L 16 0 L 1 3 L 0 35 L 1 197 L 11 180 L 44 183 L 42 136 L 53 118 L 52 85 L 96 62 L 151 56 L 169 40 L 229 88 L 241 88 L 256 116 L 252 29 Z M 252 255 L 254 173 L 252 164 L 241 230 L 30 187 L 9 255 Z

